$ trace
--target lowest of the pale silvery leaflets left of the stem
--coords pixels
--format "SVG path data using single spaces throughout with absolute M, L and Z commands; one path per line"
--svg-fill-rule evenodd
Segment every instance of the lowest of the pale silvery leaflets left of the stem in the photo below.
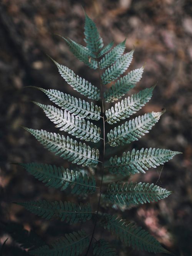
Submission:
M 63 135 L 56 133 L 49 133 L 45 130 L 34 130 L 24 127 L 49 151 L 55 153 L 56 156 L 72 161 L 83 166 L 93 166 L 98 164 L 99 150 L 86 146 L 81 143 L 70 139 L 68 136 L 65 138 Z

